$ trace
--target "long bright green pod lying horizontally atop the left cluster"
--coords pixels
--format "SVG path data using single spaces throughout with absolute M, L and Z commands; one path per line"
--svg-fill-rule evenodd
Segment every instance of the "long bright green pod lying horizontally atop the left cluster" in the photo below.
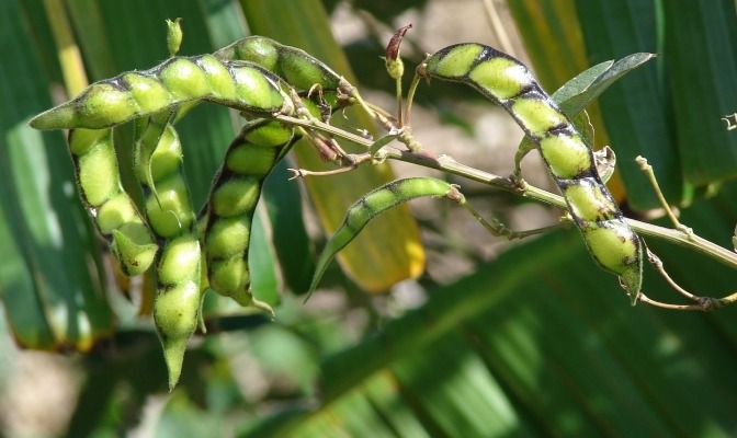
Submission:
M 252 62 L 212 55 L 171 57 L 149 70 L 95 82 L 34 117 L 36 129 L 103 128 L 188 102 L 211 101 L 257 115 L 292 113 L 280 79 Z

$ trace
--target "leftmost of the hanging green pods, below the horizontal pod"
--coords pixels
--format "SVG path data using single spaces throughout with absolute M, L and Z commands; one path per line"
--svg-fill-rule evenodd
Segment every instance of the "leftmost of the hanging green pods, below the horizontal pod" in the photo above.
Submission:
M 144 273 L 158 245 L 121 185 L 112 129 L 72 129 L 68 142 L 82 203 L 121 270 L 128 276 Z

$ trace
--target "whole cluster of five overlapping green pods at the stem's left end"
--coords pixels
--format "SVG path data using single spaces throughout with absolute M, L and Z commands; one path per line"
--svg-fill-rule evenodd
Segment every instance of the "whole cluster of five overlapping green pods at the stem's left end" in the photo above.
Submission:
M 249 289 L 251 221 L 263 181 L 299 138 L 273 115 L 298 108 L 329 114 L 338 100 L 326 96 L 339 92 L 340 79 L 303 50 L 252 36 L 212 55 L 172 56 L 149 70 L 95 82 L 31 120 L 37 129 L 69 129 L 80 196 L 121 270 L 133 276 L 156 267 L 154 321 L 170 387 L 179 380 L 205 290 L 272 313 Z M 307 96 L 314 87 L 320 93 Z M 174 125 L 202 101 L 236 108 L 248 123 L 197 214 Z M 143 211 L 123 188 L 113 143 L 113 129 L 128 122 Z

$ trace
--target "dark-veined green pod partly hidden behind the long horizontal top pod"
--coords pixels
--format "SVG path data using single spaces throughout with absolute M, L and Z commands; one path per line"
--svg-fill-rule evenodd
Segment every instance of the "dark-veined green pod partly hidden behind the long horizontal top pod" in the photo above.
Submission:
M 213 54 L 220 59 L 238 59 L 258 64 L 283 78 L 296 90 L 338 90 L 341 77 L 322 61 L 296 47 L 285 46 L 264 36 L 239 39 Z

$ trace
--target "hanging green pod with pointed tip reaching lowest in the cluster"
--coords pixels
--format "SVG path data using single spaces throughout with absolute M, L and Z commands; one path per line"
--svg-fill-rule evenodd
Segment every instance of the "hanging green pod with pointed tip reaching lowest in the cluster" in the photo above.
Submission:
M 169 123 L 175 108 L 136 120 L 135 174 L 145 195 L 146 219 L 161 245 L 157 260 L 154 322 L 172 389 L 202 302 L 201 244 L 182 168 L 182 147 Z

